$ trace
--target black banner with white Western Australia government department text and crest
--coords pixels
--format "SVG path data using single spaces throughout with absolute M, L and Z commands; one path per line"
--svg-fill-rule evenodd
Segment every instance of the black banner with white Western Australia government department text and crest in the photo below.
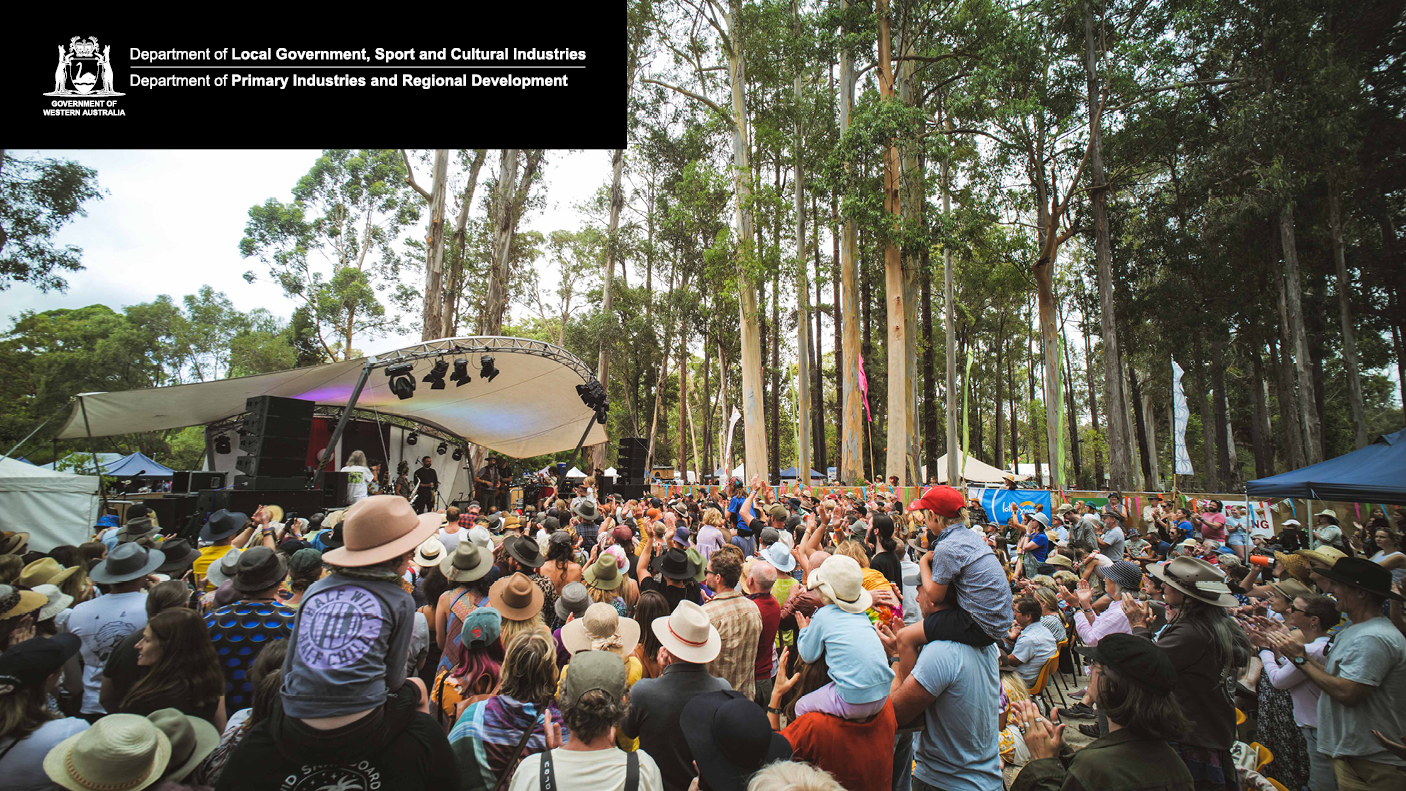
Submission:
M 90 14 L 30 28 L 0 52 L 0 145 L 624 148 L 623 4 L 512 22 L 399 11 L 354 27 L 280 13 L 180 32 Z

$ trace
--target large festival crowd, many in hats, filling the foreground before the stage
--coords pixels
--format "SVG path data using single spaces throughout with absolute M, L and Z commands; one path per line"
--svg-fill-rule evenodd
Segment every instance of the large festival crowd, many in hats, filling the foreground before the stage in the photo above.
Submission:
M 0 790 L 1406 788 L 1386 514 L 561 495 L 0 535 Z

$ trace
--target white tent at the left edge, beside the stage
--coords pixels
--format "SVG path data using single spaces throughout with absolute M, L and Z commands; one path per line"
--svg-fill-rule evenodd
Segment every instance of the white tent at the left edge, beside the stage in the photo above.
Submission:
M 0 528 L 28 532 L 30 549 L 77 547 L 93 535 L 98 478 L 0 458 Z

